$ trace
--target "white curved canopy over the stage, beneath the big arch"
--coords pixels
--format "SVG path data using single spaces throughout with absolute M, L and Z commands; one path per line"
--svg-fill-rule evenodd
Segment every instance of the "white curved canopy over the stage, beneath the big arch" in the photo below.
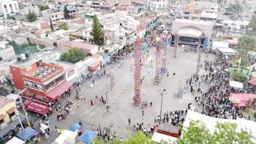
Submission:
M 178 36 L 182 37 L 191 37 L 191 38 L 199 38 L 203 34 L 201 30 L 192 29 L 192 28 L 181 28 L 177 32 Z

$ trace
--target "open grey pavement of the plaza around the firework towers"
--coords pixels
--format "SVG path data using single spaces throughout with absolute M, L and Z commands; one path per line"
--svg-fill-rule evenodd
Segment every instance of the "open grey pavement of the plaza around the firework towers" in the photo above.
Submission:
M 183 94 L 182 99 L 173 97 L 173 94 L 178 91 L 179 86 L 185 87 L 186 79 L 188 76 L 191 76 L 196 72 L 197 65 L 197 56 L 196 53 L 185 53 L 183 50 L 179 50 L 177 58 L 173 58 L 174 48 L 168 49 L 168 71 L 169 76 L 163 76 L 163 79 L 160 85 L 153 85 L 153 77 L 155 75 L 155 49 L 150 48 L 150 57 L 142 70 L 142 75 L 146 75 L 146 79 L 142 81 L 142 100 L 153 103 L 152 107 L 147 107 L 144 109 L 145 115 L 142 117 L 141 107 L 135 107 L 132 105 L 132 97 L 134 96 L 134 80 L 133 80 L 133 70 L 131 71 L 131 66 L 134 64 L 134 58 L 127 58 L 124 60 L 124 65 L 118 68 L 118 65 L 115 65 L 111 69 L 110 65 L 106 66 L 106 71 L 110 71 L 115 78 L 115 86 L 110 89 L 110 79 L 104 76 L 100 80 L 96 81 L 93 88 L 90 88 L 89 85 L 91 81 L 86 81 L 81 88 L 80 96 L 86 97 L 88 100 L 86 102 L 81 100 L 76 100 L 74 98 L 75 90 L 70 98 L 65 97 L 63 103 L 67 99 L 74 102 L 71 105 L 71 115 L 67 116 L 66 120 L 57 121 L 56 112 L 53 116 L 50 116 L 50 129 L 52 131 L 50 140 L 43 140 L 43 143 L 49 143 L 55 138 L 58 137 L 59 133 L 54 130 L 54 126 L 57 125 L 62 129 L 70 130 L 72 124 L 78 124 L 79 120 L 83 123 L 83 129 L 91 130 L 91 125 L 95 127 L 101 126 L 101 129 L 104 127 L 111 128 L 111 133 L 116 131 L 116 136 L 125 138 L 127 134 L 132 134 L 132 128 L 128 126 L 128 119 L 130 117 L 132 125 L 136 125 L 138 122 L 142 122 L 144 119 L 144 124 L 153 124 L 153 116 L 160 115 L 160 105 L 161 105 L 161 96 L 157 90 L 166 89 L 166 92 L 163 95 L 163 109 L 162 112 L 173 111 L 186 109 L 188 102 L 194 102 L 190 92 Z M 202 54 L 202 60 L 206 57 L 205 54 Z M 213 59 L 213 55 L 209 55 L 208 59 Z M 154 68 L 147 68 L 150 60 L 153 60 Z M 103 71 L 103 69 L 101 70 Z M 204 70 L 200 71 L 201 73 Z M 175 75 L 173 75 L 175 73 Z M 106 110 L 106 105 L 103 105 L 95 98 L 95 92 L 98 93 L 98 96 L 104 96 L 105 92 L 107 93 L 110 109 Z M 90 105 L 90 99 L 93 100 L 94 105 Z M 76 103 L 80 105 L 77 108 Z M 37 123 L 35 126 L 37 127 Z

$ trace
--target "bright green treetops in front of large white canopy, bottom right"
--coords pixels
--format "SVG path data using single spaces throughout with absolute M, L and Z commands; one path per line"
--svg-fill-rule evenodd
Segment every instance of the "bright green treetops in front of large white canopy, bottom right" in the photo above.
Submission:
M 217 123 L 213 133 L 209 132 L 201 121 L 190 121 L 190 126 L 182 130 L 177 143 L 254 143 L 252 132 L 241 129 L 237 132 L 237 124 Z

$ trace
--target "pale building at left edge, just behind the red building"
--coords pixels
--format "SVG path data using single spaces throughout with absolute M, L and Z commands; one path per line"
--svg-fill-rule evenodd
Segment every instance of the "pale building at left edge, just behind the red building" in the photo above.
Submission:
M 9 45 L 8 43 L 9 42 L 7 41 L 0 41 L 0 61 L 10 61 L 16 59 L 14 49 L 12 45 Z

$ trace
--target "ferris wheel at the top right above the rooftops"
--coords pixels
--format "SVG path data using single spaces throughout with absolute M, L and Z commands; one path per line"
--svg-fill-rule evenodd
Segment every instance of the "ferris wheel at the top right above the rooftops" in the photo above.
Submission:
M 229 16 L 231 20 L 240 20 L 242 22 L 249 21 L 254 14 L 255 6 L 254 4 L 249 5 L 245 2 L 236 2 L 234 4 L 229 4 L 228 7 L 224 9 L 226 15 Z

